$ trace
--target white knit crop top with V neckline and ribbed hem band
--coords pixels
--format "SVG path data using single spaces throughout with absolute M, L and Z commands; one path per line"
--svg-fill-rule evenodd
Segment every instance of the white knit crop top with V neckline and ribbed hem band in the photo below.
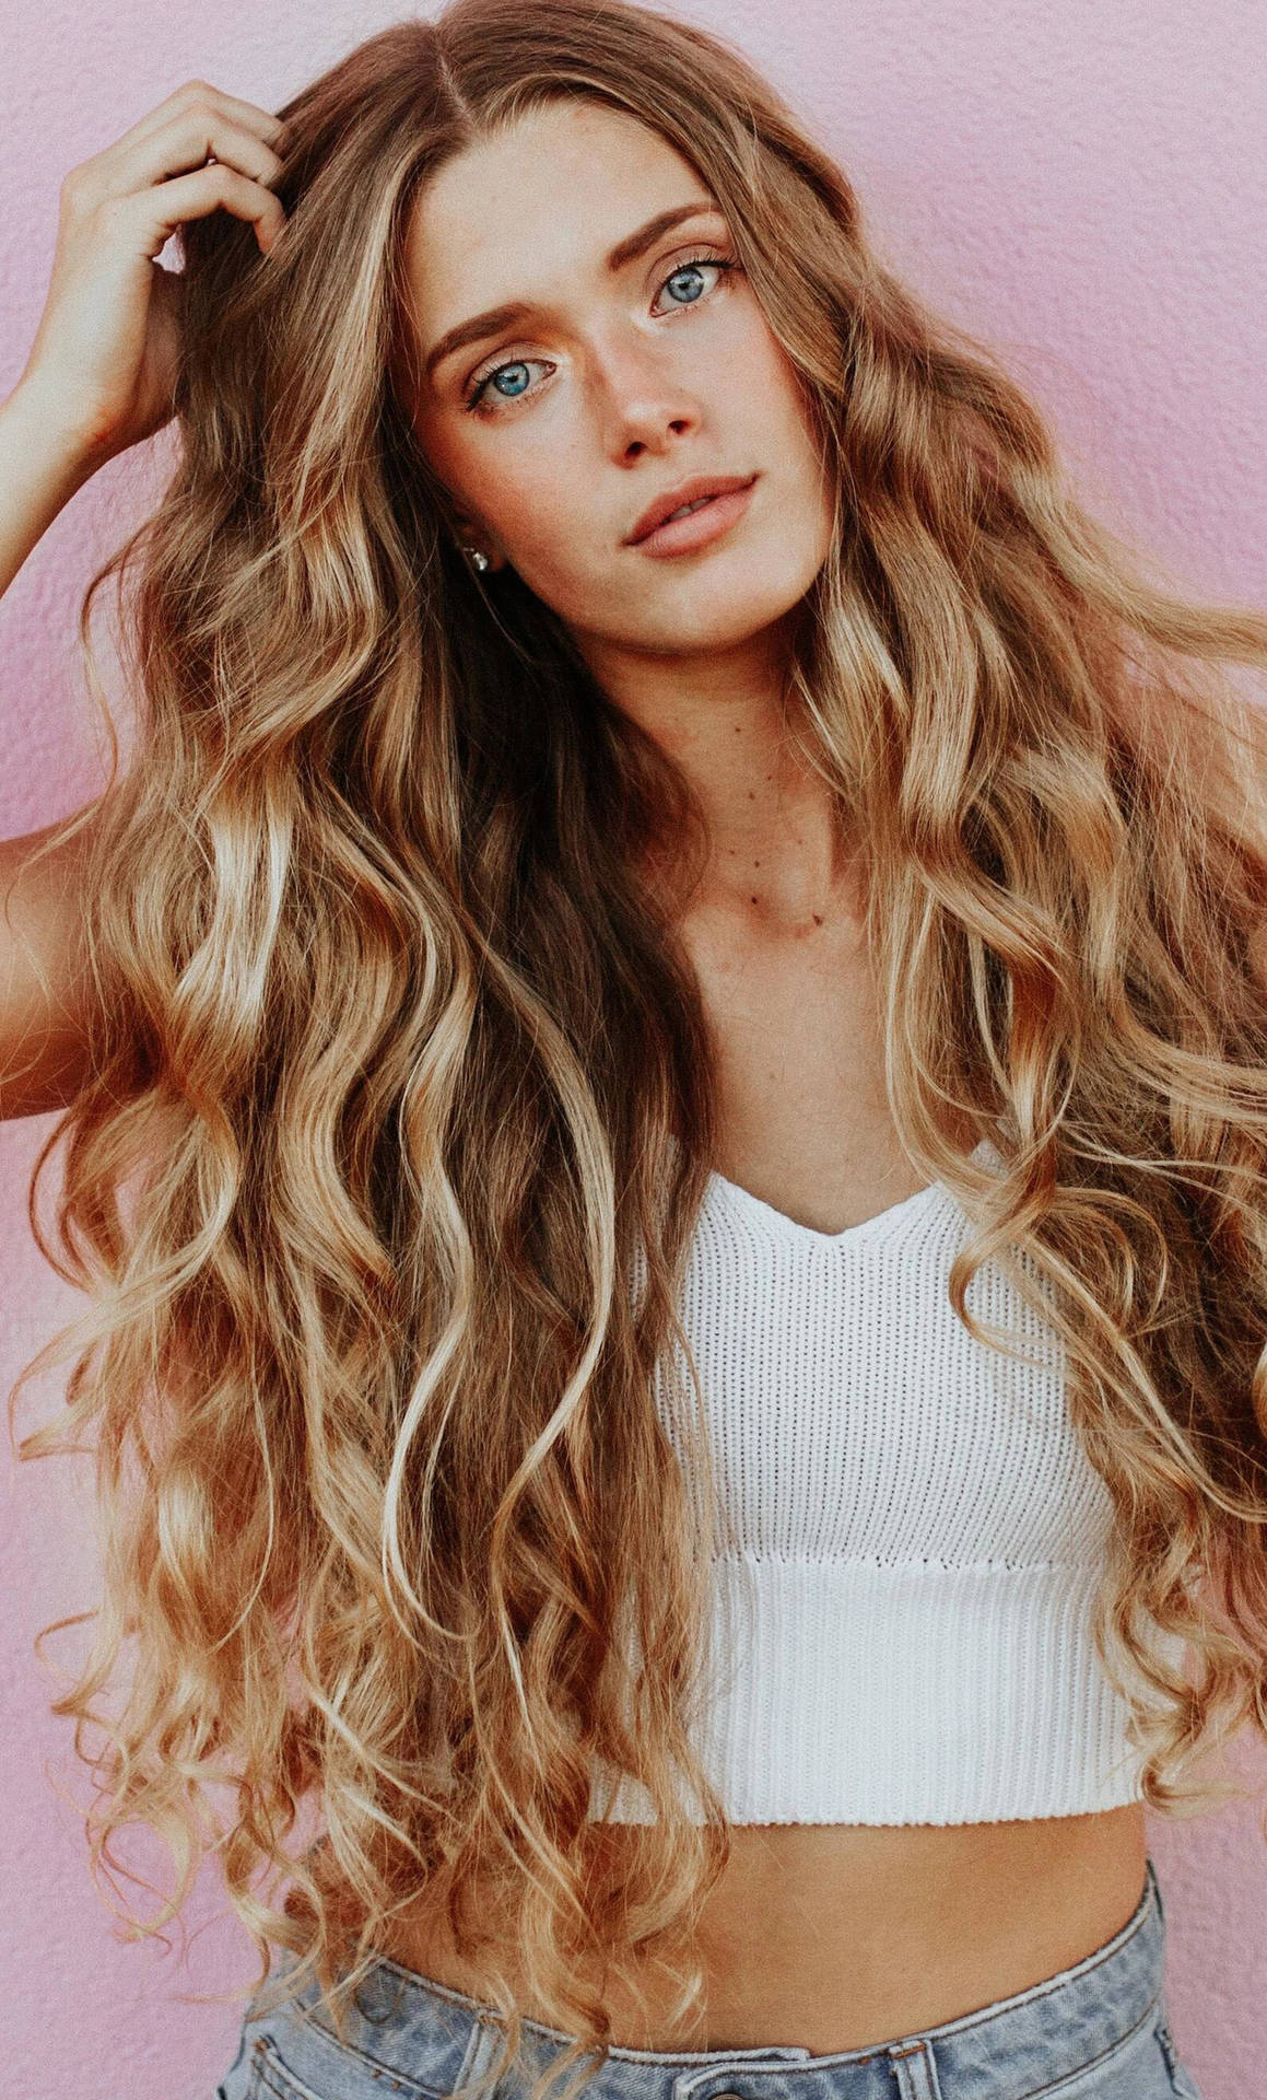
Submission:
M 990 1140 L 973 1159 L 1001 1163 Z M 755 1615 L 715 1552 L 730 1667 L 694 1743 L 734 1823 L 992 1823 L 1141 1798 L 1091 1638 L 1112 1504 L 1068 1420 L 1064 1344 L 994 1260 L 967 1306 L 1034 1361 L 967 1334 L 948 1298 L 967 1237 L 940 1182 L 820 1233 L 709 1180 L 680 1310 Z M 1158 1648 L 1183 1655 L 1160 1632 Z M 589 1819 L 608 1793 L 596 1766 Z M 627 1774 L 610 1821 L 652 1821 Z

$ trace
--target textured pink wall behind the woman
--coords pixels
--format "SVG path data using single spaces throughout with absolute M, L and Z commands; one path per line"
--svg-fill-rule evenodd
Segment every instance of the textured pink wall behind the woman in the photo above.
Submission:
M 44 302 L 57 191 L 182 80 L 264 107 L 394 8 L 220 0 L 6 0 L 0 130 L 0 397 Z M 1257 0 L 722 0 L 745 46 L 856 176 L 881 250 L 992 340 L 1055 418 L 1078 481 L 1194 590 L 1267 603 L 1267 69 Z M 147 502 L 164 441 L 96 477 L 0 605 L 0 836 L 76 808 L 99 771 L 73 620 L 90 563 Z M 162 458 L 159 458 L 162 456 Z M 0 1382 L 71 1317 L 38 1258 L 25 1182 L 52 1119 L 0 1126 Z M 52 1399 L 40 1392 L 40 1399 Z M 2 2085 L 10 2100 L 208 2100 L 239 2014 L 187 2003 L 250 1972 L 210 1877 L 189 1945 L 126 1945 L 88 1880 L 67 1796 L 86 1783 L 31 1655 L 94 1596 L 82 1466 L 6 1464 L 0 1525 L 6 1812 L 0 1816 Z M 52 1646 L 52 1659 L 65 1655 Z M 1265 1760 L 1238 1762 L 1263 1787 Z M 1267 1852 L 1252 1804 L 1150 1819 L 1171 1924 L 1175 2035 L 1206 2100 L 1263 2092 Z

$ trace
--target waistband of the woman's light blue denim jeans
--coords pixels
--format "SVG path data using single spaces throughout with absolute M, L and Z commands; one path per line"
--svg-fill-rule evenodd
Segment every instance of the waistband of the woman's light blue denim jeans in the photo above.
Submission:
M 990 2066 L 1001 2064 L 1009 2092 L 1047 2090 L 1141 2024 L 1162 1982 L 1164 1909 L 1150 1858 L 1143 1894 L 1112 1940 L 1074 1968 L 978 2012 L 831 2056 L 793 2043 L 665 2052 L 613 2043 L 583 2087 L 583 2100 L 892 2100 L 894 2085 L 902 2094 L 936 2090 L 912 2075 L 915 2058 L 927 2062 L 929 2056 L 950 2092 L 990 2092 Z M 334 2037 L 313 1978 L 292 2008 L 304 2024 Z M 522 2050 L 533 2071 L 562 2054 L 571 2039 L 539 2020 L 522 2022 Z M 348 2006 L 342 2048 L 352 2050 L 375 2081 L 384 2079 L 388 2092 L 396 2075 L 405 2090 L 459 2096 L 489 2068 L 499 2043 L 495 2008 L 382 1957 Z M 910 2071 L 902 2068 L 904 2060 Z M 497 2087 L 499 2096 L 520 2090 L 527 2092 L 522 2066 Z

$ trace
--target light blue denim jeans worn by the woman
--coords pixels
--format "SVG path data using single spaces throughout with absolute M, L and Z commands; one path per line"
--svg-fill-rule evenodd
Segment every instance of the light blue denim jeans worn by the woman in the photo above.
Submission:
M 1122 1930 L 1015 1997 L 837 2056 L 613 2045 L 581 2100 L 1202 2100 L 1171 2037 L 1164 1930 L 1150 1858 Z M 449 2100 L 493 2062 L 497 2039 L 489 2006 L 384 1959 L 348 2008 L 344 2041 L 321 2016 L 315 1982 L 264 2018 L 248 2008 L 216 2100 Z M 533 2068 L 566 2039 L 524 2020 Z M 520 2064 L 495 2100 L 522 2092 Z

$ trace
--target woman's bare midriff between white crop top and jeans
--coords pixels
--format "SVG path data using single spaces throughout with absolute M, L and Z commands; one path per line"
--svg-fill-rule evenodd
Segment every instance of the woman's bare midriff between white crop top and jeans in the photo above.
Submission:
M 613 2041 L 797 2043 L 814 2056 L 898 2041 L 1095 1953 L 1137 1909 L 1145 1858 L 1141 1802 L 1019 1823 L 738 1825 L 699 1926 L 703 2024 L 671 2029 L 669 1991 L 648 1982 L 650 2018 L 606 1995 Z M 480 1978 L 434 1909 L 396 1924 L 390 1953 L 478 1999 Z M 531 2001 L 522 2010 L 558 2026 Z

